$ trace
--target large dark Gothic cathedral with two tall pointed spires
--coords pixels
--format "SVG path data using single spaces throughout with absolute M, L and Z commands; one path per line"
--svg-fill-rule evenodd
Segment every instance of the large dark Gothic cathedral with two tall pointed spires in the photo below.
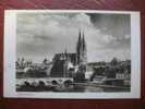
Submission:
M 68 52 L 67 50 L 62 53 L 56 53 L 52 59 L 52 69 L 50 76 L 52 77 L 68 77 L 69 72 L 75 72 L 75 68 L 86 65 L 87 63 L 87 49 L 85 43 L 84 32 L 78 33 L 78 39 L 76 41 L 76 52 Z

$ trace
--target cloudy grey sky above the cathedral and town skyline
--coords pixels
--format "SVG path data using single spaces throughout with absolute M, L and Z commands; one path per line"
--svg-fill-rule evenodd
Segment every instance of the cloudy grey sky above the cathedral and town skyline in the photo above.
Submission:
M 131 58 L 129 14 L 23 12 L 16 20 L 17 58 L 38 62 L 65 49 L 75 52 L 80 31 L 85 35 L 89 62 Z

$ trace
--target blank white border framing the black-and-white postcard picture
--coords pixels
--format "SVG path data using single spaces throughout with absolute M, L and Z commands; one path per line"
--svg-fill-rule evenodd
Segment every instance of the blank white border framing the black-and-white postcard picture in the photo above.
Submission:
M 21 12 L 89 12 L 131 14 L 131 92 L 130 93 L 20 93 L 15 90 L 16 13 Z M 113 99 L 141 97 L 140 12 L 84 10 L 7 10 L 4 12 L 3 95 L 13 98 Z

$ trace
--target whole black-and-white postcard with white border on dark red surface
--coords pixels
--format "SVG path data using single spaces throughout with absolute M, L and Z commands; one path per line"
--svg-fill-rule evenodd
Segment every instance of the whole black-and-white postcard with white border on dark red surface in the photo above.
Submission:
M 138 12 L 15 10 L 4 19 L 7 97 L 140 97 Z

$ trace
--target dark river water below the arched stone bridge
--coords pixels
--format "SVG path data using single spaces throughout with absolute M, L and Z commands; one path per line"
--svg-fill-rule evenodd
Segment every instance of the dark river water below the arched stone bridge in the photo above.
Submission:
M 94 93 L 94 92 L 130 92 L 130 87 L 106 87 L 106 86 L 89 86 L 89 85 L 80 85 L 80 84 L 74 84 L 74 85 L 56 85 L 56 86 L 50 86 L 50 85 L 39 85 L 39 86 L 32 86 L 29 84 L 19 86 L 16 88 L 17 92 L 68 92 L 68 93 Z

